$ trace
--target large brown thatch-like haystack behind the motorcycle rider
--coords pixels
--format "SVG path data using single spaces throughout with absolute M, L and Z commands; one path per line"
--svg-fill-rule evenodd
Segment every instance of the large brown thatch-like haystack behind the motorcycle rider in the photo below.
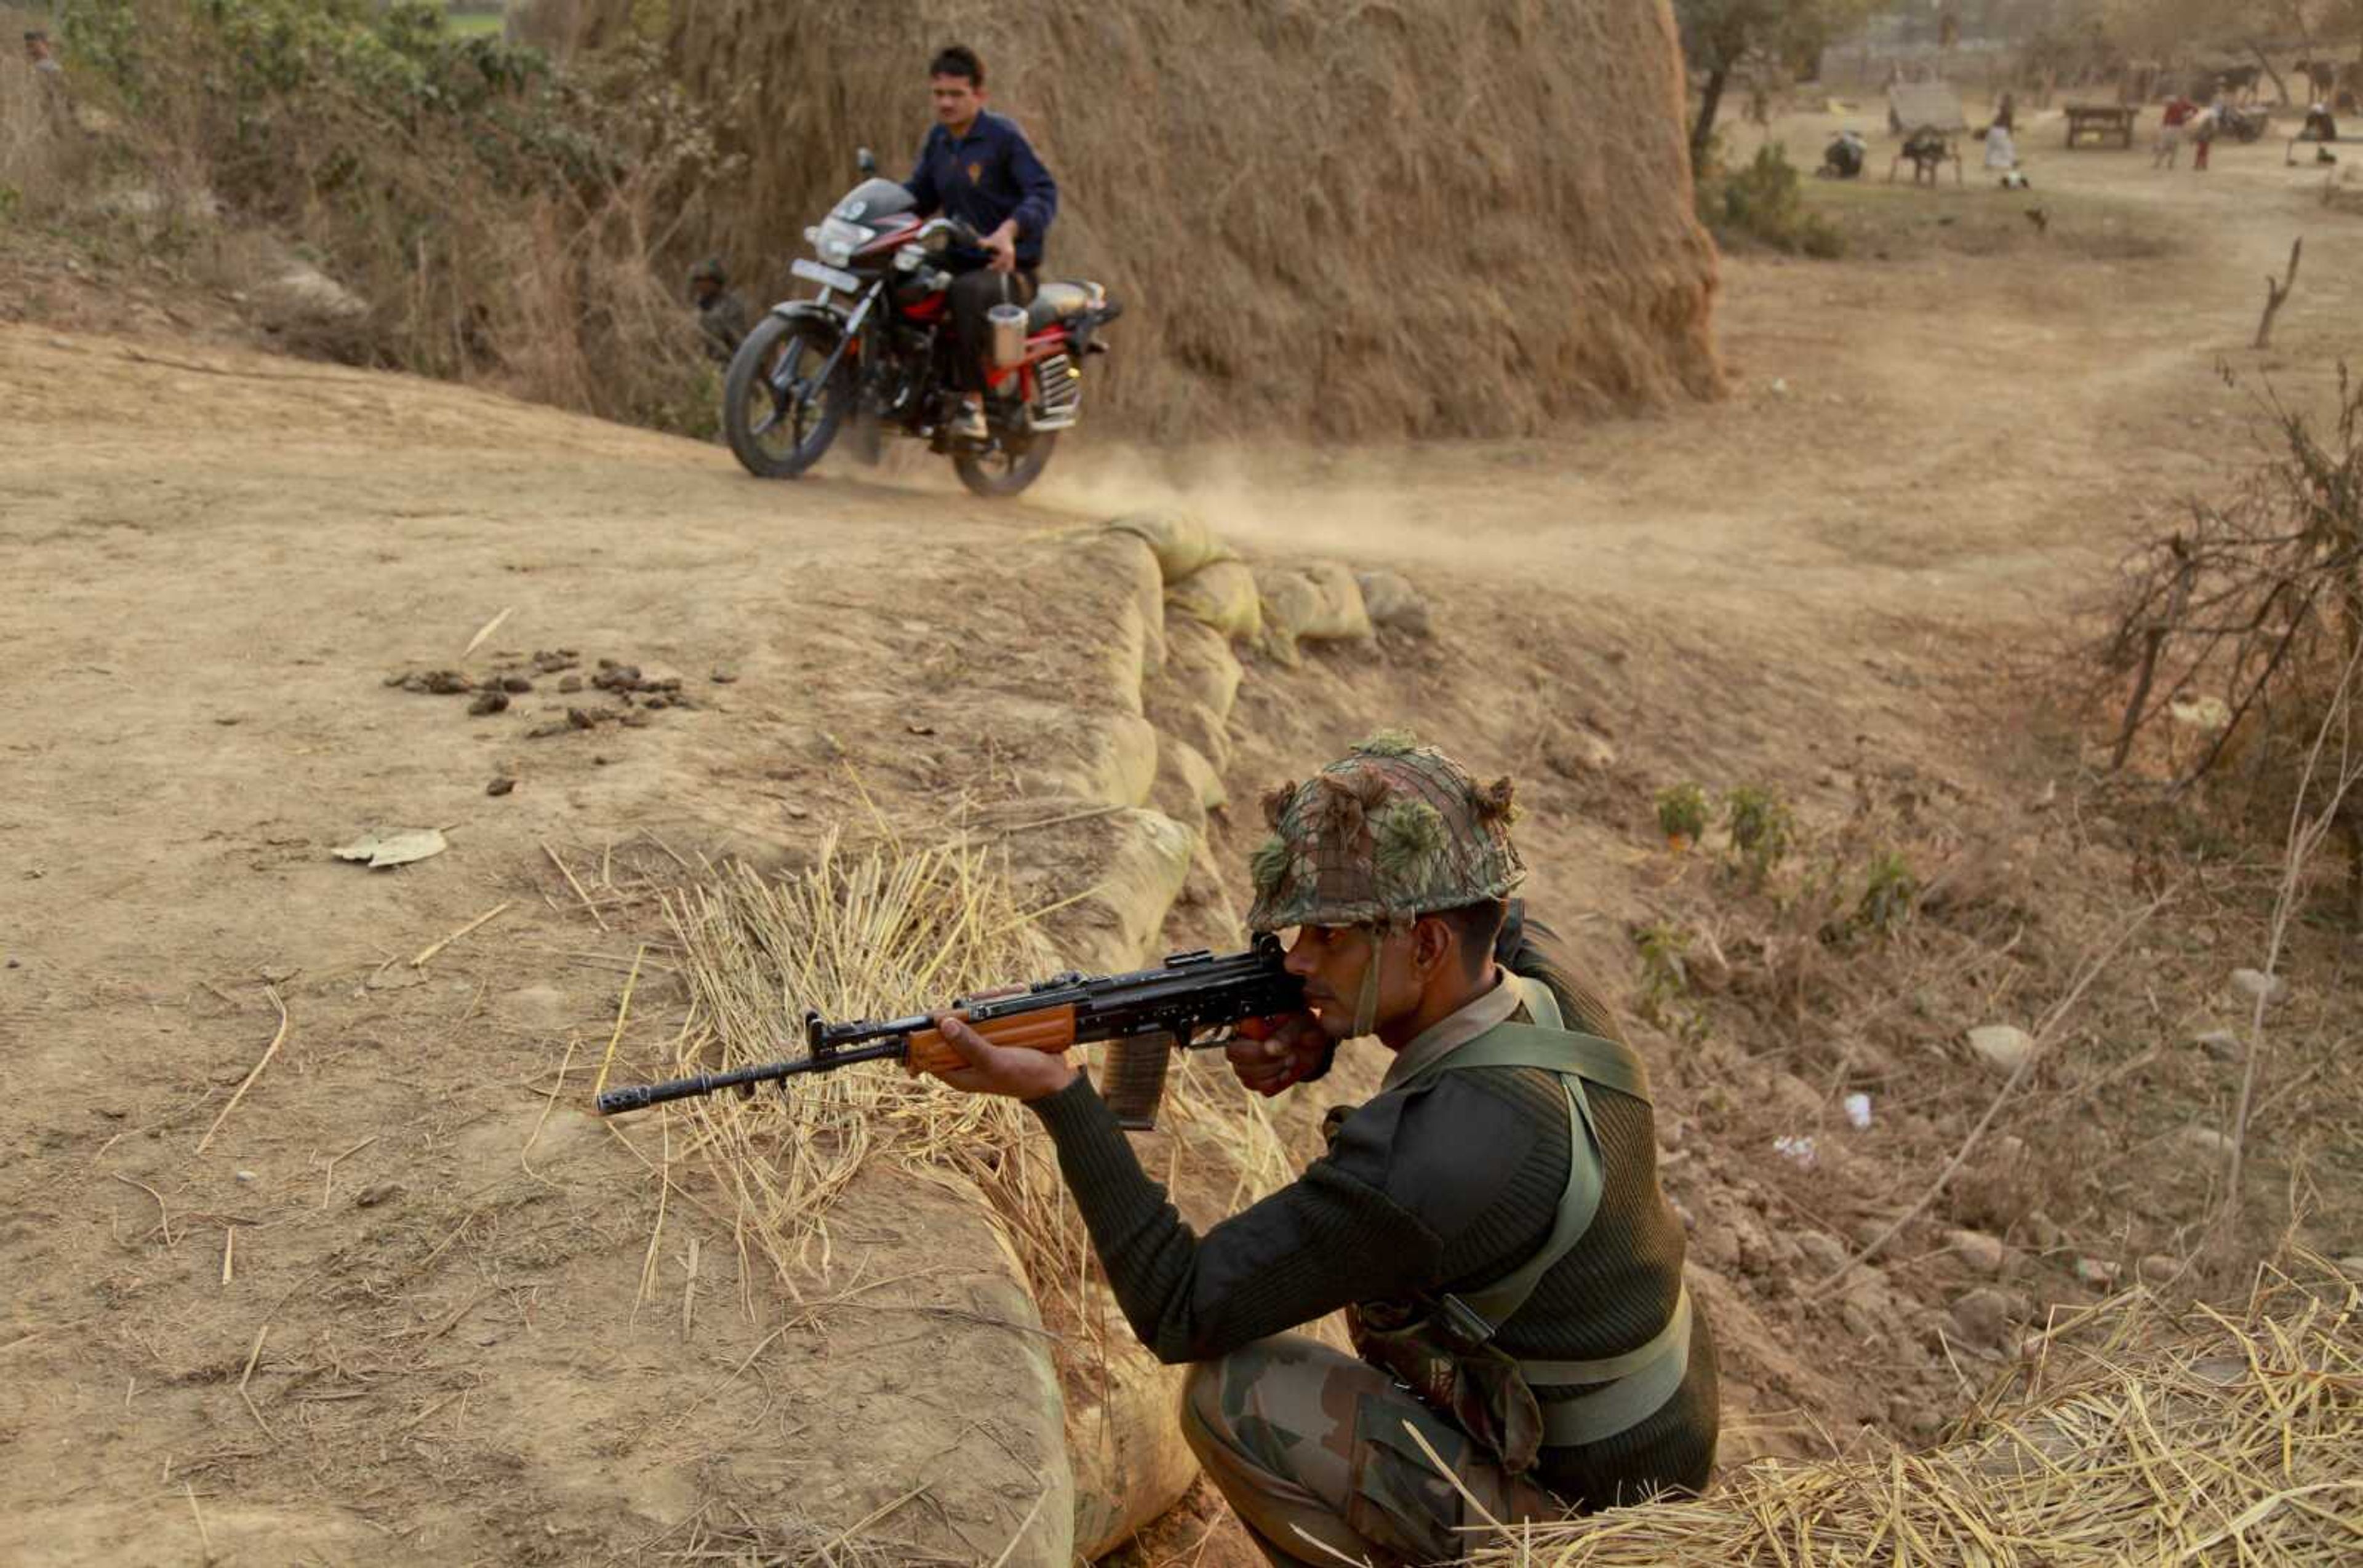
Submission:
M 581 5 L 593 47 L 664 14 Z M 655 26 L 742 130 L 711 239 L 756 293 L 855 146 L 910 168 L 933 50 L 981 50 L 1061 182 L 1049 274 L 1127 305 L 1101 427 L 1515 435 L 1720 387 L 1666 0 L 709 0 Z

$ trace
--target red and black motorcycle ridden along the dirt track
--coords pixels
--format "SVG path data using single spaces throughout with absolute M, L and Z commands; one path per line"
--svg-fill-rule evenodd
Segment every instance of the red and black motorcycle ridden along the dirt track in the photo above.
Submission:
M 820 290 L 773 305 L 740 342 L 723 378 L 723 432 L 747 472 L 794 479 L 820 460 L 851 418 L 860 456 L 900 432 L 952 458 L 978 496 L 1016 496 L 1042 477 L 1063 430 L 1082 416 L 1082 366 L 1106 354 L 1101 328 L 1122 314 L 1099 283 L 1042 283 L 1030 305 L 997 307 L 985 371 L 985 439 L 959 437 L 957 352 L 950 316 L 955 248 L 978 248 L 955 217 L 919 220 L 910 191 L 867 175 L 820 224 L 811 257 L 789 272 Z

